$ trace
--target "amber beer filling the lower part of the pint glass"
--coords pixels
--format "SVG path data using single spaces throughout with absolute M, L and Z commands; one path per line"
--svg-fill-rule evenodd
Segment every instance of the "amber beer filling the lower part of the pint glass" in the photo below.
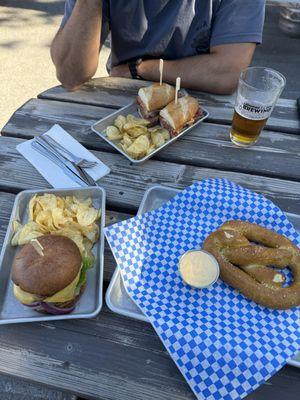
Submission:
M 250 146 L 254 144 L 267 120 L 268 118 L 260 120 L 248 119 L 234 111 L 230 132 L 232 142 L 239 146 Z

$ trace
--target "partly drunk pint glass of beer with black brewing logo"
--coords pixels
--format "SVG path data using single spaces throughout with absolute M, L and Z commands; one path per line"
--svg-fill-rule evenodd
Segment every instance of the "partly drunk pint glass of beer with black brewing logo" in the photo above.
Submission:
M 248 147 L 257 141 L 285 82 L 270 68 L 249 67 L 241 72 L 230 132 L 234 144 Z

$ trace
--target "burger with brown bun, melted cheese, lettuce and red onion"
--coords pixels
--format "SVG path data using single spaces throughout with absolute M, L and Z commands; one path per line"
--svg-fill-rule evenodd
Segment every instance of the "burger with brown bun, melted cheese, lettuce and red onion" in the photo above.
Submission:
M 77 245 L 65 236 L 43 235 L 25 244 L 13 261 L 14 295 L 22 304 L 48 314 L 74 310 L 85 288 L 86 271 Z

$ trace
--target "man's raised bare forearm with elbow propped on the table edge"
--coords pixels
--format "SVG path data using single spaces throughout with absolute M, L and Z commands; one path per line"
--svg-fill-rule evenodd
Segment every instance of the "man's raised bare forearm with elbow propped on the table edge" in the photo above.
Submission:
M 101 0 L 77 0 L 72 15 L 53 40 L 51 56 L 57 77 L 68 89 L 76 89 L 97 70 L 101 20 Z

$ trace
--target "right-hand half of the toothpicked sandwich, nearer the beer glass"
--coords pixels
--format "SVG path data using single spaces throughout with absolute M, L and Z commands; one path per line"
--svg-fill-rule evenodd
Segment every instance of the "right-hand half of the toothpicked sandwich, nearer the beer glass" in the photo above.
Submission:
M 170 132 L 172 137 L 187 125 L 193 124 L 202 115 L 198 100 L 192 96 L 179 97 L 177 103 L 172 101 L 159 113 L 160 124 Z

